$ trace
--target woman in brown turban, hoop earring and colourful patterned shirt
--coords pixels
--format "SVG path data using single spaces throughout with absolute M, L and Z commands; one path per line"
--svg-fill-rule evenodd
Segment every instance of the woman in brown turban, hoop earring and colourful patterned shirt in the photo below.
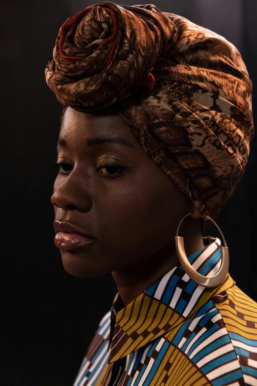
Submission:
M 45 74 L 64 105 L 55 244 L 71 275 L 111 272 L 118 288 L 74 386 L 257 385 L 257 303 L 201 234 L 253 138 L 238 50 L 152 4 L 107 1 L 67 19 Z

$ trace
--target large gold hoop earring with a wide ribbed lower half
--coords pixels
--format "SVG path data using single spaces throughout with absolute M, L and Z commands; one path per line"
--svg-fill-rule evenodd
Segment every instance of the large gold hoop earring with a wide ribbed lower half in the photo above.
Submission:
M 185 272 L 188 274 L 188 276 L 197 284 L 208 288 L 217 287 L 225 280 L 226 274 L 228 272 L 228 266 L 229 266 L 229 253 L 228 253 L 228 247 L 226 246 L 225 238 L 219 226 L 216 224 L 216 222 L 211 217 L 206 216 L 206 218 L 208 220 L 211 220 L 214 223 L 214 225 L 216 225 L 216 227 L 218 228 L 223 238 L 223 242 L 225 246 L 221 247 L 222 262 L 221 262 L 221 267 L 219 272 L 217 272 L 217 274 L 212 276 L 211 278 L 207 278 L 206 276 L 200 275 L 197 271 L 193 269 L 192 265 L 188 261 L 188 257 L 186 255 L 185 246 L 184 246 L 184 237 L 178 236 L 179 228 L 182 221 L 190 214 L 193 214 L 193 212 L 188 213 L 185 217 L 182 218 L 182 220 L 179 223 L 177 233 L 175 236 L 175 246 L 176 246 L 178 259 L 180 261 L 180 264 L 184 268 Z

